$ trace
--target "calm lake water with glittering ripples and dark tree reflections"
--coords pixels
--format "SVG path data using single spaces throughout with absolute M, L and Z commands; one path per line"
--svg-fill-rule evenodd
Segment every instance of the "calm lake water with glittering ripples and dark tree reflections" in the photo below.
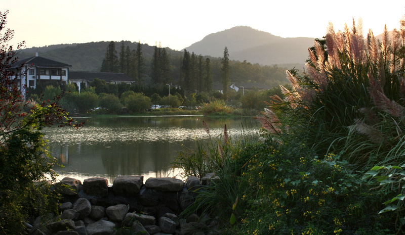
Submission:
M 106 177 L 109 184 L 118 175 L 176 176 L 170 164 L 183 148 L 195 148 L 195 140 L 207 141 L 223 133 L 226 124 L 232 138 L 257 130 L 252 118 L 207 118 L 204 116 L 142 116 L 81 118 L 82 129 L 48 128 L 44 132 L 49 150 L 58 163 L 59 179 Z M 242 128 L 242 126 L 244 128 Z M 254 128 L 245 128 L 245 127 Z

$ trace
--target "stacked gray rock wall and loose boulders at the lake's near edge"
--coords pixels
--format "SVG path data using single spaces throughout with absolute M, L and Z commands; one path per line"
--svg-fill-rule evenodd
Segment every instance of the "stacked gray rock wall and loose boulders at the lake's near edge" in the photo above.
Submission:
M 105 178 L 85 179 L 84 183 L 64 178 L 61 216 L 35 234 L 113 234 L 117 228 L 128 227 L 139 234 L 205 234 L 207 225 L 198 222 L 198 216 L 179 219 L 177 215 L 193 201 L 193 191 L 200 181 L 189 177 L 184 183 L 174 178 L 118 176 L 109 187 Z M 140 214 L 139 212 L 146 214 Z M 37 228 L 37 226 L 36 226 Z M 202 233 L 201 233 L 202 232 Z M 137 233 L 137 234 L 138 234 Z M 33 233 L 34 234 L 34 233 Z M 210 233 L 212 234 L 212 233 Z

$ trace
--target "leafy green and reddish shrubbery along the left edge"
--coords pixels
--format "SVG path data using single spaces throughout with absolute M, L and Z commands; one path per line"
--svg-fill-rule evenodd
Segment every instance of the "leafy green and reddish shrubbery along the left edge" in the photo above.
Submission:
M 16 52 L 8 45 L 13 30 L 5 29 L 8 11 L 0 12 L 0 234 L 25 234 L 26 223 L 39 215 L 58 213 L 58 194 L 51 189 L 55 159 L 41 130 L 72 125 L 57 104 L 58 97 L 42 103 L 26 102 L 12 69 Z M 23 43 L 19 43 L 19 50 Z M 18 76 L 18 75 L 17 75 Z M 48 93 L 58 92 L 47 86 Z M 56 89 L 59 87 L 56 87 Z

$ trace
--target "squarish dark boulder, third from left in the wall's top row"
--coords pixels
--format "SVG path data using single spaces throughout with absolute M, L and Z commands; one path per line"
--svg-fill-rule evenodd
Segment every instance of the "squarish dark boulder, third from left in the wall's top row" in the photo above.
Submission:
M 122 175 L 117 176 L 112 184 L 112 192 L 120 196 L 138 195 L 143 184 L 143 176 Z

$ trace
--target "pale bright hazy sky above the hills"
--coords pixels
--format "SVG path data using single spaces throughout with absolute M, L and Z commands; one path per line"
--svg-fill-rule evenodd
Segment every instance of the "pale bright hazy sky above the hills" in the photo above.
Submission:
M 282 2 L 282 3 L 281 3 Z M 374 3 L 375 2 L 375 3 Z M 404 0 L 222 1 L 222 0 L 0 0 L 9 10 L 12 44 L 28 48 L 91 41 L 138 41 L 181 50 L 210 33 L 250 26 L 281 37 L 322 37 L 329 22 L 335 30 L 361 17 L 375 35 L 399 28 Z

